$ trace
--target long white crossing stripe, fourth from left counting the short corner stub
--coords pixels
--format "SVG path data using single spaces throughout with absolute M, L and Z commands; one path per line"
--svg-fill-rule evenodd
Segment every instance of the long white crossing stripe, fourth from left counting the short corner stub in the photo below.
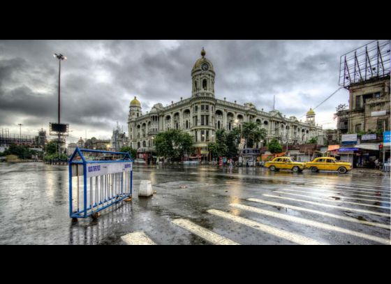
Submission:
M 260 209 L 260 208 L 256 208 L 256 207 L 243 205 L 243 204 L 231 203 L 230 206 L 235 207 L 237 209 L 243 209 L 243 210 L 246 210 L 246 211 L 251 211 L 251 212 L 258 213 L 258 214 L 270 216 L 270 217 L 273 217 L 273 218 L 279 218 L 279 219 L 282 219 L 282 220 L 285 220 L 285 221 L 289 221 L 289 222 L 295 222 L 295 223 L 299 223 L 299 224 L 302 224 L 302 225 L 308 225 L 308 226 L 311 226 L 311 227 L 317 227 L 318 229 L 330 230 L 330 231 L 335 231 L 335 232 L 341 232 L 341 233 L 344 233 L 344 234 L 350 234 L 350 235 L 352 235 L 354 237 L 360 237 L 360 238 L 363 238 L 363 239 L 369 239 L 371 241 L 376 241 L 376 242 L 378 242 L 380 244 L 390 244 L 390 239 L 383 239 L 383 238 L 380 238 L 380 237 L 372 236 L 371 234 L 364 234 L 362 232 L 356 232 L 356 231 L 345 229 L 343 227 L 338 227 L 338 226 L 334 226 L 334 225 L 330 225 L 330 224 L 326 224 L 326 223 L 320 223 L 318 221 L 311 221 L 311 220 L 308 220 L 308 219 L 295 217 L 295 216 L 290 216 L 290 215 L 286 215 L 286 214 L 281 214 L 281 213 L 278 213 L 278 212 L 264 210 L 264 209 Z

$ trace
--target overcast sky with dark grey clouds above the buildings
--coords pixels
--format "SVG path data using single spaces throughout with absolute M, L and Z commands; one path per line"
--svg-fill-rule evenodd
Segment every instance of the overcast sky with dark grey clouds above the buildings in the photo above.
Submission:
M 297 118 L 339 85 L 339 58 L 371 40 L 0 40 L 0 128 L 36 135 L 57 122 L 58 61 L 61 123 L 71 137 L 108 138 L 119 122 L 127 133 L 134 96 L 142 112 L 155 103 L 191 96 L 191 68 L 205 47 L 216 72 L 215 96 L 254 103 Z M 335 128 L 341 89 L 316 109 L 323 128 Z M 302 119 L 305 119 L 303 117 Z

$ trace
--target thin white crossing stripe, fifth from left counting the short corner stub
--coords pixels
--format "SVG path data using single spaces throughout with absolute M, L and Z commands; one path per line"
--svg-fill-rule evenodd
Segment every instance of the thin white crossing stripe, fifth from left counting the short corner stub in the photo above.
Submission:
M 293 210 L 297 210 L 297 211 L 311 212 L 313 214 L 318 214 L 318 215 L 322 215 L 322 216 L 336 218 L 336 219 L 349 221 L 349 222 L 353 222 L 353 223 L 360 223 L 360 224 L 363 224 L 363 225 L 369 225 L 369 226 L 374 226 L 374 227 L 383 227 L 384 229 L 388 229 L 388 230 L 391 229 L 390 224 L 381 224 L 381 223 L 363 221 L 363 220 L 359 220 L 359 219 L 352 218 L 352 217 L 346 217 L 346 216 L 341 216 L 341 215 L 337 215 L 337 214 L 331 214 L 331 213 L 327 213 L 327 212 L 323 212 L 323 211 L 307 209 L 307 208 L 304 208 L 304 207 L 298 207 L 298 206 L 285 204 L 285 203 L 272 202 L 272 201 L 267 201 L 267 200 L 260 200 L 258 198 L 249 198 L 247 200 L 252 201 L 252 202 L 258 202 L 258 203 L 262 203 L 262 204 L 277 206 L 277 207 L 289 208 L 289 209 L 293 209 Z

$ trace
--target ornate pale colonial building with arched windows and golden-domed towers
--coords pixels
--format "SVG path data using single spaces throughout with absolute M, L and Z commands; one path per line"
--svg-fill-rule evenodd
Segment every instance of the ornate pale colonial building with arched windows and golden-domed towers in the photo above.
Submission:
M 158 103 L 150 112 L 142 114 L 141 104 L 134 98 L 131 101 L 128 116 L 129 146 L 133 149 L 152 151 L 154 136 L 169 129 L 180 129 L 194 137 L 194 146 L 198 152 L 207 149 L 208 142 L 214 142 L 216 130 L 230 131 L 242 127 L 246 121 L 253 121 L 260 128 L 267 130 L 266 144 L 272 138 L 283 144 L 304 144 L 312 137 L 323 135 L 321 126 L 315 123 L 315 112 L 307 112 L 306 121 L 296 117 L 286 117 L 278 110 L 266 112 L 258 110 L 253 103 L 239 105 L 214 96 L 214 78 L 216 73 L 211 61 L 205 57 L 202 49 L 201 58 L 195 61 L 191 70 L 191 97 L 163 107 Z M 322 139 L 323 141 L 323 139 Z

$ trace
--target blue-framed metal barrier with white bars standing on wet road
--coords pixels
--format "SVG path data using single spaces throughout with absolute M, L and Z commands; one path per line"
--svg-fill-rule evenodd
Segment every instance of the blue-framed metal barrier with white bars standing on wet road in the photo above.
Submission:
M 132 181 L 133 159 L 128 153 L 77 147 L 69 159 L 69 216 L 96 217 L 97 212 L 131 197 Z

